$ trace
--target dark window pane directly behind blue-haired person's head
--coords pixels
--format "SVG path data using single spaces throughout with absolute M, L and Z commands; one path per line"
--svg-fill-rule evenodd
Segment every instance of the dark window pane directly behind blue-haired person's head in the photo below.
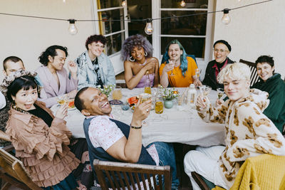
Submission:
M 161 54 L 165 53 L 165 48 L 170 41 L 177 39 L 184 47 L 187 54 L 194 55 L 196 58 L 204 58 L 205 38 L 161 38 Z

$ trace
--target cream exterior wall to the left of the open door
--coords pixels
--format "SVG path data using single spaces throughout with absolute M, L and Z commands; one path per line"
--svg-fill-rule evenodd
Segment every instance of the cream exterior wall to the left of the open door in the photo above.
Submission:
M 93 19 L 92 0 L 1 0 L 0 12 L 60 19 Z M 94 33 L 95 23 L 76 22 L 78 33 L 68 33 L 68 21 L 32 19 L 0 15 L 0 65 L 8 56 L 18 56 L 26 69 L 35 70 L 38 56 L 48 46 L 68 48 L 67 60 L 74 60 L 86 51 L 86 38 Z M 0 75 L 2 81 L 3 75 Z

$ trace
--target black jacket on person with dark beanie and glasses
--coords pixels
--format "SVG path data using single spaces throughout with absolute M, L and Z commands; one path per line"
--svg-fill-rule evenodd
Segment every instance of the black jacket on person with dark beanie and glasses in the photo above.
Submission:
M 227 64 L 231 64 L 234 63 L 234 61 L 230 60 L 229 58 L 226 59 L 227 60 Z M 217 82 L 217 78 L 216 78 L 216 69 L 213 68 L 214 64 L 217 63 L 217 68 L 220 71 L 222 66 L 224 65 L 224 63 L 226 62 L 226 60 L 224 60 L 223 63 L 217 63 L 216 60 L 211 60 L 206 68 L 206 73 L 204 76 L 204 80 L 203 80 L 203 85 L 208 85 L 212 88 L 212 90 L 217 90 L 217 88 L 224 88 L 223 84 L 219 84 Z

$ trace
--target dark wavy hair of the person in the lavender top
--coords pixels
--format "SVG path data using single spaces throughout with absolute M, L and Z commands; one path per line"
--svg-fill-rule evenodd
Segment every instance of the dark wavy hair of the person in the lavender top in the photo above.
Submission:
M 62 51 L 64 51 L 64 53 L 66 53 L 66 57 L 68 56 L 66 47 L 58 46 L 58 45 L 49 46 L 48 48 L 46 48 L 46 51 L 43 51 L 41 53 L 41 56 L 38 57 L 39 62 L 41 64 L 47 66 L 48 65 L 48 56 L 51 56 L 53 58 L 55 56 L 58 56 L 58 53 L 56 53 L 56 50 L 62 50 Z

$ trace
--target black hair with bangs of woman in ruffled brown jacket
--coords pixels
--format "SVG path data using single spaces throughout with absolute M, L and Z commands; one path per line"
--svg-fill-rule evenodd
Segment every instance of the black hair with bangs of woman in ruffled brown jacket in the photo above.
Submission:
M 36 80 L 32 76 L 24 75 L 19 78 L 16 78 L 9 86 L 7 91 L 7 98 L 11 102 L 13 102 L 12 95 L 16 96 L 16 94 L 24 88 L 24 90 L 28 90 L 30 88 L 36 89 L 38 92 L 38 85 L 36 85 Z M 39 96 L 39 95 L 38 95 Z

